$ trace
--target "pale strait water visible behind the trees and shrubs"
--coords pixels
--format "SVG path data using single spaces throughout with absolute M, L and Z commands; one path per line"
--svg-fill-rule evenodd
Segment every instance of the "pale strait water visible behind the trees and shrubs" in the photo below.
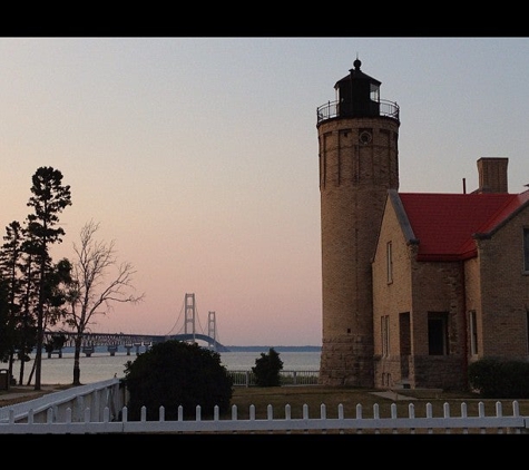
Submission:
M 267 353 L 267 351 L 263 351 Z M 221 354 L 221 363 L 228 371 L 249 371 L 255 365 L 255 360 L 261 358 L 261 352 L 243 351 L 243 352 L 223 352 Z M 284 371 L 317 371 L 320 370 L 320 352 L 278 352 L 280 359 L 283 361 Z M 23 383 L 27 384 L 31 368 L 33 366 L 35 354 L 31 361 L 25 365 Z M 134 361 L 136 352 L 131 351 L 130 355 L 126 352 L 117 352 L 111 356 L 108 352 L 95 352 L 90 358 L 81 353 L 80 356 L 80 381 L 81 383 L 100 382 L 111 379 L 125 376 L 125 364 L 127 361 Z M 7 363 L 0 363 L 0 369 L 7 369 Z M 18 382 L 20 361 L 13 364 L 13 375 Z M 42 354 L 41 365 L 41 383 L 42 384 L 69 384 L 74 380 L 74 353 L 63 352 L 62 358 L 53 354 L 48 358 Z M 35 374 L 31 381 L 35 384 Z

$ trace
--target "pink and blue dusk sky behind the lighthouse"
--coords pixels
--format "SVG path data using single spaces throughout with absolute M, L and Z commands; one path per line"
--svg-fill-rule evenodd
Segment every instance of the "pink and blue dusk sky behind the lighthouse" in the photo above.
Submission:
M 3 235 L 51 166 L 72 200 L 53 261 L 94 221 L 145 294 L 92 332 L 183 332 L 195 294 L 224 345 L 321 345 L 316 109 L 356 58 L 400 107 L 400 192 L 471 192 L 481 157 L 527 189 L 529 38 L 3 37 Z

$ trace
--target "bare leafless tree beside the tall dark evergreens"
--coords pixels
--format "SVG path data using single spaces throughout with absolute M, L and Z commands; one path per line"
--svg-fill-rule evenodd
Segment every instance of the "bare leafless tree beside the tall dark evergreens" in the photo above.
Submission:
M 65 322 L 76 333 L 74 385 L 80 385 L 82 339 L 88 325 L 96 323 L 94 316 L 106 315 L 115 302 L 136 304 L 144 300 L 144 294 L 136 296 L 130 293 L 135 291 L 133 275 L 136 271 L 133 265 L 118 263 L 114 241 L 107 244 L 95 239 L 98 229 L 98 223 L 88 222 L 80 232 L 80 245 L 74 244 L 77 257 L 71 263 L 70 309 Z

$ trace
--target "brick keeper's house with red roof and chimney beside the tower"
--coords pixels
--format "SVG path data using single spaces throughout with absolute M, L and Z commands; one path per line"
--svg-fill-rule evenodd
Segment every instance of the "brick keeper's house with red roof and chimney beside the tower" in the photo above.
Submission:
M 529 190 L 507 158 L 466 194 L 389 189 L 372 260 L 374 385 L 464 389 L 484 356 L 529 356 Z

